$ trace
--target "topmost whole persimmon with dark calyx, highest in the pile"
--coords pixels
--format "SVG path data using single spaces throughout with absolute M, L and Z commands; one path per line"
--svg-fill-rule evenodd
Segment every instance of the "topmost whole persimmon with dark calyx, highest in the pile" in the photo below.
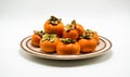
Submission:
M 50 20 L 44 23 L 43 28 L 47 34 L 56 34 L 61 37 L 64 30 L 64 24 L 61 18 L 51 16 Z

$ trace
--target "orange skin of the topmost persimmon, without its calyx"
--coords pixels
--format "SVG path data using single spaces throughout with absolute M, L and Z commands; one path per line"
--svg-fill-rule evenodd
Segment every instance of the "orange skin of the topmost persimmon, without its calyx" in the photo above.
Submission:
M 64 24 L 60 22 L 57 25 L 52 25 L 47 21 L 43 25 L 44 33 L 47 34 L 56 34 L 58 37 L 62 36 L 64 30 Z

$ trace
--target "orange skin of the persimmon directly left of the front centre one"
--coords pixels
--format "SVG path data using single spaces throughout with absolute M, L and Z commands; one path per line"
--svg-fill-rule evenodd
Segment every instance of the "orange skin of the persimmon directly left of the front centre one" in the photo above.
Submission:
M 40 41 L 40 48 L 43 52 L 56 52 L 56 44 L 58 42 L 58 38 L 56 37 L 55 40 L 49 41 L 49 40 L 44 40 L 44 41 Z

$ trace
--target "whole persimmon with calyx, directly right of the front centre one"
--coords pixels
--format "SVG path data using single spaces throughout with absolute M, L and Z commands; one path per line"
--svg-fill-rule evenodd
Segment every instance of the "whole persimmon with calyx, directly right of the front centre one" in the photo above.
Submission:
M 92 34 L 82 35 L 78 43 L 80 44 L 81 52 L 93 52 L 96 48 L 96 40 L 93 38 Z

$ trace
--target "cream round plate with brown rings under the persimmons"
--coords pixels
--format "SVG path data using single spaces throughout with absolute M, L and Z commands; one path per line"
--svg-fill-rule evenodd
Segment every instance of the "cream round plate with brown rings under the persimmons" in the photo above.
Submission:
M 41 51 L 40 48 L 31 46 L 31 40 L 30 39 L 31 39 L 31 36 L 28 36 L 28 37 L 24 38 L 21 41 L 21 48 L 25 52 L 27 52 L 31 55 L 35 55 L 35 56 L 38 56 L 38 57 L 51 59 L 51 60 L 89 59 L 89 57 L 94 57 L 94 56 L 102 55 L 102 54 L 106 53 L 112 48 L 112 42 L 107 38 L 100 36 L 100 41 L 99 41 L 99 44 L 95 48 L 94 52 L 80 53 L 78 55 L 58 55 L 56 53 L 46 53 L 46 52 Z

